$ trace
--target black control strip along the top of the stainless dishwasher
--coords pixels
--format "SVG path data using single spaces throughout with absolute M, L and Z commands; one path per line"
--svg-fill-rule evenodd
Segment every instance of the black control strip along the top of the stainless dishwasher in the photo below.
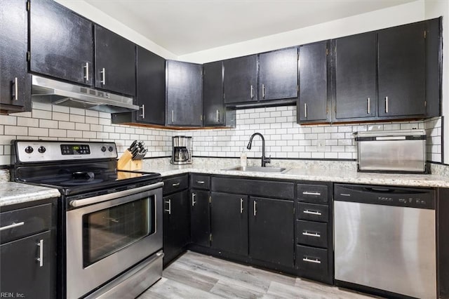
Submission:
M 335 184 L 334 200 L 434 209 L 435 190 L 394 186 Z

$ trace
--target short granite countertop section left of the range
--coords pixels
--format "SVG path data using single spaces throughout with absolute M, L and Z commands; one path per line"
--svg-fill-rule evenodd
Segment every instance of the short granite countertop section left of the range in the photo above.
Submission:
M 60 192 L 53 188 L 21 184 L 20 182 L 0 182 L 0 207 L 60 196 Z

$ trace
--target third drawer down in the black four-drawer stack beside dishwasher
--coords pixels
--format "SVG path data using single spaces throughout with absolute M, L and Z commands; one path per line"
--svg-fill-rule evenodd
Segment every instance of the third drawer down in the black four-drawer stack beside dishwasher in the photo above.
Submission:
M 328 248 L 328 224 L 297 220 L 296 243 Z

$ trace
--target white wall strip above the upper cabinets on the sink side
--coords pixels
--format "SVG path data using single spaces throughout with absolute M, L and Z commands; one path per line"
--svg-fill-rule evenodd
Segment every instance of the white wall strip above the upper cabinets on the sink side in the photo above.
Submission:
M 421 20 L 424 20 L 424 0 L 354 15 L 349 18 L 325 22 L 281 34 L 264 36 L 260 39 L 243 41 L 238 44 L 182 55 L 178 59 L 187 62 L 205 63 L 307 44 L 313 41 L 334 39 Z

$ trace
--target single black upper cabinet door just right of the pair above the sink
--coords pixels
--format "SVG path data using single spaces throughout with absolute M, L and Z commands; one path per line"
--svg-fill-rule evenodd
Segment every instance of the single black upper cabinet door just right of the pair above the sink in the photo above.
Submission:
M 328 120 L 327 41 L 300 46 L 299 121 Z

